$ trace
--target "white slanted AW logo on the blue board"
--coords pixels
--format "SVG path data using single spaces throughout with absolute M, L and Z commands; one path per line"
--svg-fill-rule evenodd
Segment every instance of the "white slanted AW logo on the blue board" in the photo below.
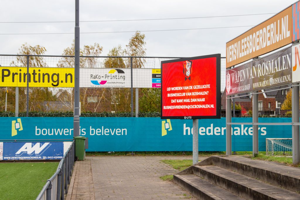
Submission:
M 36 156 L 40 156 L 44 153 L 44 151 L 49 148 L 51 144 L 49 142 L 45 142 L 43 145 L 40 142 L 37 142 L 35 145 L 32 142 L 26 142 L 19 151 L 16 152 L 16 156 L 21 156 L 22 154 L 32 155 L 35 154 Z

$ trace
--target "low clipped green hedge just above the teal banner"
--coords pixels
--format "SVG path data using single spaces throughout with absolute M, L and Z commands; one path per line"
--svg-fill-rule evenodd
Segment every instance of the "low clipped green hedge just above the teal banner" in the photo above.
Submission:
M 14 117 L 14 112 L 0 112 L 0 117 Z M 73 112 L 29 112 L 29 117 L 73 117 Z M 160 112 L 140 112 L 139 117 L 160 117 Z M 19 117 L 26 117 L 26 112 L 19 112 Z M 131 117 L 131 112 L 82 112 L 80 117 Z M 135 113 L 134 113 L 135 117 Z

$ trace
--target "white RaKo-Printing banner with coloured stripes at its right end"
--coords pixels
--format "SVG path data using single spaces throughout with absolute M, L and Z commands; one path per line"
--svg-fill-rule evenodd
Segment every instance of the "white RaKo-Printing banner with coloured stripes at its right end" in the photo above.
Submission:
M 160 69 L 133 69 L 134 88 L 160 87 Z M 156 76 L 154 73 L 156 73 Z M 155 84 L 154 84 L 155 83 Z M 81 88 L 131 88 L 131 69 L 80 68 Z

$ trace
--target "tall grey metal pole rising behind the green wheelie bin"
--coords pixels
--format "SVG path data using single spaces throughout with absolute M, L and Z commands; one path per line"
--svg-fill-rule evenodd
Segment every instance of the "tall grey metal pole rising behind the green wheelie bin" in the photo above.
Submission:
M 79 0 L 75 0 L 74 137 L 79 136 Z

